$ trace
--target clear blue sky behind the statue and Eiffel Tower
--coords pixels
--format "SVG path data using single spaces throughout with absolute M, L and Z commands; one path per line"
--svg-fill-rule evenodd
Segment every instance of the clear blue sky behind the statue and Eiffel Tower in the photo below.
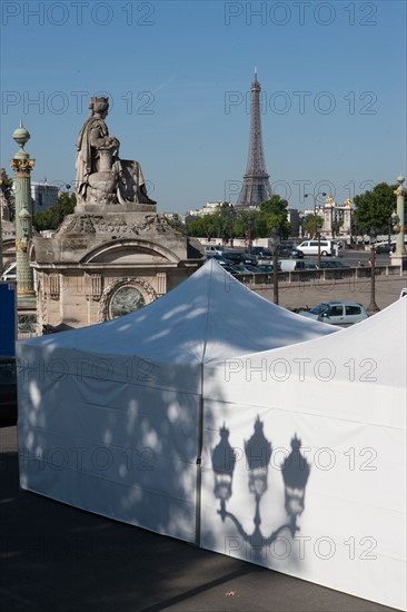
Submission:
M 1 2 L 1 166 L 31 134 L 33 180 L 75 182 L 88 101 L 159 211 L 236 203 L 255 66 L 275 193 L 341 203 L 406 174 L 406 2 Z

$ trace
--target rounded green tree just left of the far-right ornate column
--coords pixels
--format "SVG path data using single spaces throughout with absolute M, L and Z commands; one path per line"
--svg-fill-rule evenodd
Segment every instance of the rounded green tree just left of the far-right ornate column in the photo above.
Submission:
M 371 191 L 355 196 L 354 224 L 366 230 L 387 233 L 396 209 L 396 185 L 379 182 Z

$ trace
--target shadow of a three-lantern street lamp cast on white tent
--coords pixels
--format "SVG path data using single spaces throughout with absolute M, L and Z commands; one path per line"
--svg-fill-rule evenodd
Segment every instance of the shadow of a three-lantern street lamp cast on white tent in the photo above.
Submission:
M 305 490 L 309 477 L 309 464 L 300 453 L 301 442 L 297 435 L 291 440 L 291 453 L 286 457 L 281 465 L 281 473 L 285 484 L 285 509 L 289 522 L 279 526 L 269 536 L 265 537 L 260 530 L 260 501 L 268 488 L 268 466 L 270 463 L 272 448 L 271 443 L 264 434 L 264 423 L 257 417 L 255 422 L 255 433 L 245 442 L 245 454 L 247 468 L 249 473 L 249 492 L 255 495 L 255 529 L 252 533 L 246 533 L 240 521 L 226 510 L 226 504 L 231 497 L 231 481 L 235 470 L 236 456 L 228 442 L 229 431 L 224 427 L 220 430 L 220 443 L 212 453 L 212 468 L 215 474 L 215 496 L 220 500 L 220 515 L 222 522 L 229 519 L 236 526 L 241 537 L 250 544 L 255 555 L 260 555 L 261 551 L 272 544 L 284 530 L 288 530 L 291 537 L 299 531 L 297 517 L 304 511 Z

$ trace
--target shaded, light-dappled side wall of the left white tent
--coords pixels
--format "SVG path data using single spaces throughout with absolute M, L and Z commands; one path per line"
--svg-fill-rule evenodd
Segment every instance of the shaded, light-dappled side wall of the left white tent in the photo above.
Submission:
M 200 366 L 22 344 L 21 487 L 195 542 Z

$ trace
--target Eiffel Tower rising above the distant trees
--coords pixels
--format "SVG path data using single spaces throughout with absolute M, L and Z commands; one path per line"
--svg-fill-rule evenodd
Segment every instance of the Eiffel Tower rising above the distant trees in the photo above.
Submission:
M 270 175 L 267 174 L 265 154 L 262 151 L 260 91 L 261 87 L 257 80 L 257 69 L 255 69 L 255 80 L 251 83 L 249 155 L 244 185 L 236 203 L 236 206 L 240 208 L 258 207 L 262 201 L 270 199 L 272 196 L 269 181 Z

